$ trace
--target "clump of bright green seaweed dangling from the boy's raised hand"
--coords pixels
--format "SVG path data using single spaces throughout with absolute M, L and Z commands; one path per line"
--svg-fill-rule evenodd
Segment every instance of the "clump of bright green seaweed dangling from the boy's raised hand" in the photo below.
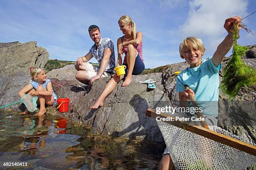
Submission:
M 245 28 L 244 25 L 242 25 L 242 28 Z M 246 31 L 248 30 L 246 29 Z M 223 71 L 223 80 L 220 84 L 220 89 L 224 94 L 228 95 L 230 101 L 238 95 L 241 87 L 249 87 L 256 84 L 256 69 L 246 65 L 241 59 L 241 56 L 246 55 L 248 47 L 238 45 L 237 39 L 239 37 L 238 24 L 235 24 L 233 55 Z

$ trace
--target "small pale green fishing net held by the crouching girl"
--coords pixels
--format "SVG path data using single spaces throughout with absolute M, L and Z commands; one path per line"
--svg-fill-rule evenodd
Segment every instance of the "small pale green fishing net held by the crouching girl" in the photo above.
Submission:
M 30 94 L 25 94 L 22 97 L 20 97 L 20 102 L 24 103 L 24 105 L 27 107 L 28 111 L 34 112 L 37 110 L 37 96 L 32 96 Z

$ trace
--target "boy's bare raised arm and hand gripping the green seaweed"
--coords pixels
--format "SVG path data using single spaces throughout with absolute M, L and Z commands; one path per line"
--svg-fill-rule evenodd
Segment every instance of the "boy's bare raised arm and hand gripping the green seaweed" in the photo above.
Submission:
M 225 37 L 225 39 L 220 43 L 220 45 L 217 47 L 217 50 L 215 51 L 213 57 L 212 57 L 212 62 L 215 66 L 220 65 L 222 62 L 223 58 L 225 55 L 228 53 L 230 48 L 233 45 L 233 30 L 234 26 L 233 23 L 240 23 L 241 22 L 241 17 L 236 16 L 236 17 L 231 17 L 225 20 L 224 23 L 224 28 L 228 31 L 228 35 Z M 241 27 L 238 28 L 240 30 Z

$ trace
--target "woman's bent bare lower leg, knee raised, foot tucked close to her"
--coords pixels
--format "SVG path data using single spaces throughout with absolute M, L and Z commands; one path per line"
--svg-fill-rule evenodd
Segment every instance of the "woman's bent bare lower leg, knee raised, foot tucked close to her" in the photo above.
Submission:
M 125 78 L 125 81 L 123 82 L 122 86 L 126 87 L 129 86 L 129 84 L 132 82 L 132 73 L 133 73 L 133 67 L 135 64 L 135 59 L 137 55 L 137 50 L 135 47 L 131 44 L 127 47 L 127 64 L 128 64 L 128 73 L 127 77 Z

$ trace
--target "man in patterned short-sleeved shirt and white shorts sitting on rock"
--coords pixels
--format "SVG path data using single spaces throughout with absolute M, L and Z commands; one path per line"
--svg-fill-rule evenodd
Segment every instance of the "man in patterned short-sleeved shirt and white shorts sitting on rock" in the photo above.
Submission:
M 97 25 L 91 25 L 88 29 L 89 35 L 95 42 L 87 55 L 78 57 L 75 68 L 76 79 L 84 84 L 89 84 L 100 77 L 111 76 L 115 68 L 115 50 L 113 41 L 109 38 L 102 38 L 100 28 Z M 95 57 L 99 66 L 90 64 L 88 61 Z

